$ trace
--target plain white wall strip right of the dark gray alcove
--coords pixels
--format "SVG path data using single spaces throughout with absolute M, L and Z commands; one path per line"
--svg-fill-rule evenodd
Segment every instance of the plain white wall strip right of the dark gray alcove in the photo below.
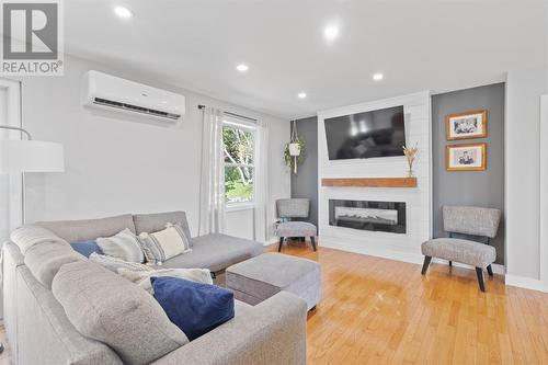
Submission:
M 506 83 L 506 282 L 535 286 L 540 278 L 540 95 L 548 69 L 507 73 Z M 537 283 L 538 284 L 538 283 Z

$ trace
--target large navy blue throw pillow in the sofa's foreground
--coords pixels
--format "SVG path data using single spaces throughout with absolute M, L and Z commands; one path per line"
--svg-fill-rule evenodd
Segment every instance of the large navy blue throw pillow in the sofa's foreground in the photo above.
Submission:
M 156 300 L 191 341 L 235 317 L 232 292 L 180 277 L 159 276 L 150 281 Z

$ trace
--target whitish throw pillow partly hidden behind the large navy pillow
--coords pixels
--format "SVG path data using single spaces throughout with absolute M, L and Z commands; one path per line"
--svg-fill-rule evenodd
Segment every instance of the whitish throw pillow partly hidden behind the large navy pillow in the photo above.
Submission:
M 155 271 L 118 269 L 118 274 L 150 294 L 153 294 L 150 277 L 174 276 L 196 283 L 213 284 L 212 272 L 207 269 L 160 269 Z

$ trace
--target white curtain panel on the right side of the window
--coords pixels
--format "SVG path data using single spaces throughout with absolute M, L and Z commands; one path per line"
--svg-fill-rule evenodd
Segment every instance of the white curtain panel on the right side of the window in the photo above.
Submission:
M 254 239 L 267 242 L 269 225 L 269 125 L 259 121 L 255 141 L 255 178 L 254 178 Z

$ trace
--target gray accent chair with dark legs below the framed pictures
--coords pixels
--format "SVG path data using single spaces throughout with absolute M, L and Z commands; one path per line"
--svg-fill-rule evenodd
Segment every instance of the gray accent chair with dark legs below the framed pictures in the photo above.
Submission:
M 501 210 L 467 207 L 444 206 L 443 221 L 444 230 L 449 233 L 448 238 L 436 238 L 421 246 L 424 263 L 422 274 L 426 274 L 432 258 L 453 261 L 472 265 L 476 267 L 478 284 L 481 292 L 486 292 L 483 283 L 483 270 L 493 276 L 491 264 L 496 259 L 494 247 L 489 246 L 490 240 L 496 236 L 501 221 Z M 484 243 L 469 239 L 456 238 L 466 235 L 483 239 Z

